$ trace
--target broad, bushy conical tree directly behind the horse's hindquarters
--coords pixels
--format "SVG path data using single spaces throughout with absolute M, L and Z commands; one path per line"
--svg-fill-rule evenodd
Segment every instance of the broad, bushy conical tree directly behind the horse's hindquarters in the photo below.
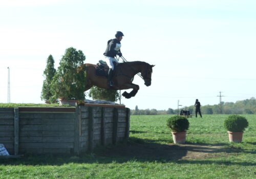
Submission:
M 73 47 L 66 49 L 51 84 L 51 93 L 55 99 L 84 100 L 86 73 L 82 64 L 85 59 L 81 50 L 76 51 Z

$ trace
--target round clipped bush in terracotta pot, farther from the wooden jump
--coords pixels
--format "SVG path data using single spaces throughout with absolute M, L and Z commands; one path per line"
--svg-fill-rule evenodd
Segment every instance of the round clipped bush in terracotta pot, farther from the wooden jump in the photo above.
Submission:
M 229 142 L 242 142 L 243 131 L 248 126 L 245 117 L 230 115 L 224 121 L 224 127 L 228 130 Z

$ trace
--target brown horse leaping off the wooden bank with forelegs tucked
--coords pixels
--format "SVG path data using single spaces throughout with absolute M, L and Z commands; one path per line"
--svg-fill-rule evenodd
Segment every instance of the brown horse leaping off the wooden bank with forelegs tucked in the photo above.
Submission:
M 141 76 L 144 80 L 146 86 L 151 85 L 151 74 L 152 68 L 155 65 L 150 65 L 143 61 L 132 61 L 132 62 L 123 62 L 118 63 L 116 66 L 115 76 L 113 77 L 114 86 L 109 86 L 107 83 L 106 77 L 99 77 L 95 75 L 95 64 L 85 63 L 83 66 L 86 66 L 86 88 L 85 91 L 90 89 L 92 86 L 98 86 L 105 89 L 130 89 L 133 91 L 127 93 L 126 91 L 122 94 L 125 98 L 131 98 L 136 95 L 139 90 L 139 85 L 132 83 L 134 76 L 137 73 L 141 73 Z

